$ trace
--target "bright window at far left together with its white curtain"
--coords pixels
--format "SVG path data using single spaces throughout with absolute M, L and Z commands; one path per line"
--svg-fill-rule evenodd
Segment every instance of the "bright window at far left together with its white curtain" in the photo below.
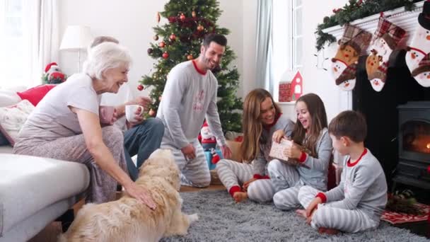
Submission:
M 58 59 L 57 0 L 0 0 L 0 87 L 37 86 Z

